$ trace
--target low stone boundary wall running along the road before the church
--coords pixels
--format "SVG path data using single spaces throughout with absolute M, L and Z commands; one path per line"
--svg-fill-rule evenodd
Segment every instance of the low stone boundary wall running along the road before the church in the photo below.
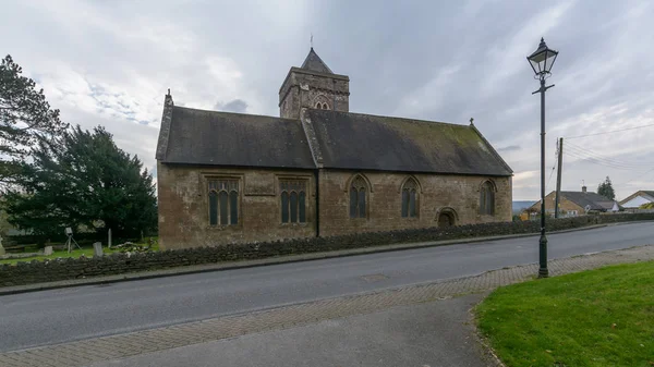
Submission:
M 550 219 L 547 231 L 560 231 L 593 224 L 654 220 L 654 213 L 623 213 Z M 332 237 L 295 238 L 277 242 L 231 244 L 152 253 L 112 254 L 99 258 L 33 260 L 0 265 L 0 286 L 51 282 L 77 278 L 166 269 L 235 260 L 253 260 L 338 249 L 363 248 L 409 242 L 460 240 L 479 236 L 537 233 L 540 221 L 484 223 L 417 230 L 371 232 Z

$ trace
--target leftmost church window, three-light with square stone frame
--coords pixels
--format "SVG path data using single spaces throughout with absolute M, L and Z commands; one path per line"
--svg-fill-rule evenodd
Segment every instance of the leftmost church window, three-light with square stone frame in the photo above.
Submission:
M 209 225 L 239 224 L 239 181 L 209 181 Z

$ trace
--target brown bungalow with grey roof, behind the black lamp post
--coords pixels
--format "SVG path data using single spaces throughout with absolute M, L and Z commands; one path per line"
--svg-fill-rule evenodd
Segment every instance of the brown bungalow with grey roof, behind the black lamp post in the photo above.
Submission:
M 545 212 L 554 215 L 556 191 L 545 197 Z M 589 192 L 586 186 L 581 192 L 560 192 L 559 217 L 578 217 L 589 212 L 616 212 L 620 207 L 618 201 L 611 200 L 600 194 Z M 533 216 L 541 212 L 541 200 L 526 209 Z

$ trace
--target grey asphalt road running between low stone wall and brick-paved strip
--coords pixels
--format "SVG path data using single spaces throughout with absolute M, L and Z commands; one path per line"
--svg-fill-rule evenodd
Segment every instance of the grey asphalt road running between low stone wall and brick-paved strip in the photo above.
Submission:
M 642 222 L 552 234 L 549 258 L 654 243 Z M 537 236 L 0 296 L 0 352 L 536 262 Z

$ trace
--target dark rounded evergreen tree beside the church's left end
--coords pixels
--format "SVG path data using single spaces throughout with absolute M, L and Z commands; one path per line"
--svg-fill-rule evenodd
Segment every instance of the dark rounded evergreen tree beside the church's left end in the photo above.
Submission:
M 117 237 L 156 228 L 152 175 L 104 127 L 76 126 L 61 138 L 41 140 L 33 158 L 22 164 L 21 189 L 5 195 L 12 224 L 51 237 L 61 237 L 65 227 L 111 229 Z

